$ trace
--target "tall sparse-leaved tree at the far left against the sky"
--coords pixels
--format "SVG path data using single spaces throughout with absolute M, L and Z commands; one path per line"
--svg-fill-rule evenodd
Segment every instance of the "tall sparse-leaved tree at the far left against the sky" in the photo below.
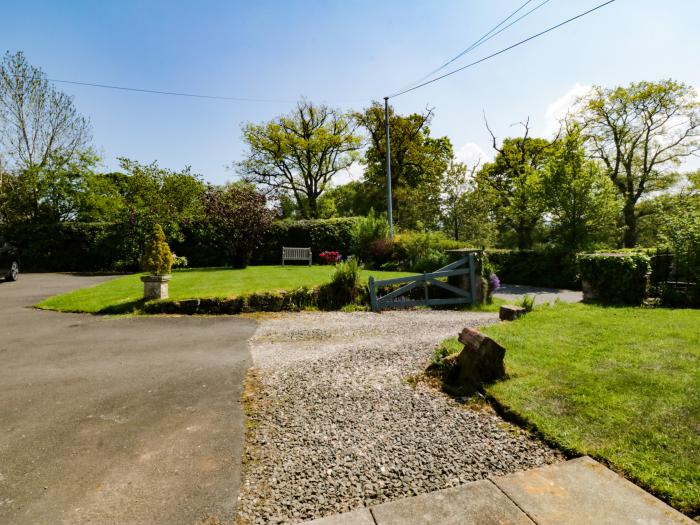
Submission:
M 90 125 L 71 97 L 52 86 L 21 52 L 5 53 L 0 63 L 0 153 L 14 177 L 29 220 L 38 220 L 56 178 L 88 150 Z M 65 180 L 63 181 L 65 182 Z

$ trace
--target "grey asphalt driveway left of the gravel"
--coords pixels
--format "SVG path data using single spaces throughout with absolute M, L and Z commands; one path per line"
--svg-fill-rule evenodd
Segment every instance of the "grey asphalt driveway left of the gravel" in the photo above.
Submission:
M 31 308 L 104 279 L 0 281 L 0 523 L 227 523 L 254 321 Z

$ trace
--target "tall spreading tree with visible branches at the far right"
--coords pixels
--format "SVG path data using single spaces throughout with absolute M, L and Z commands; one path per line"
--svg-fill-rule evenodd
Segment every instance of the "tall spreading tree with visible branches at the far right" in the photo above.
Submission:
M 639 206 L 675 181 L 674 168 L 700 151 L 700 106 L 695 91 L 673 80 L 596 87 L 574 117 L 590 155 L 600 160 L 624 201 L 624 246 L 637 244 Z

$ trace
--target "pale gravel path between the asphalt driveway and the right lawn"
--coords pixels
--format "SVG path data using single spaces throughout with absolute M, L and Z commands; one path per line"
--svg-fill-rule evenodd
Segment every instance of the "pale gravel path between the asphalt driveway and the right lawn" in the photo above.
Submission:
M 490 409 L 406 382 L 437 342 L 495 321 L 428 310 L 260 319 L 239 522 L 297 523 L 561 460 Z

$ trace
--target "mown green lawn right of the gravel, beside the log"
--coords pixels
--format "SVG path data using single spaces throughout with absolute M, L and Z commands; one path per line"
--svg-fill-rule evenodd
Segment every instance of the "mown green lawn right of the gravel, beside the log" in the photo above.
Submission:
M 483 332 L 506 348 L 501 408 L 700 514 L 700 311 L 561 304 Z

